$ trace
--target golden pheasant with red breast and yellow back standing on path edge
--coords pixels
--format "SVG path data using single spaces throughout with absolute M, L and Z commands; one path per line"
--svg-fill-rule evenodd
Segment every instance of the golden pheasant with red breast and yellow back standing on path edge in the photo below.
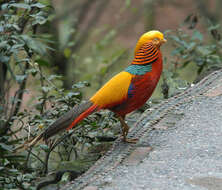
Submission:
M 108 109 L 121 123 L 123 141 L 136 143 L 138 139 L 127 138 L 129 126 L 125 116 L 145 104 L 157 86 L 163 69 L 160 47 L 165 42 L 164 34 L 158 30 L 144 33 L 136 44 L 132 62 L 125 70 L 113 76 L 89 100 L 75 105 L 58 118 L 41 137 L 47 140 L 60 131 L 74 128 L 93 112 Z

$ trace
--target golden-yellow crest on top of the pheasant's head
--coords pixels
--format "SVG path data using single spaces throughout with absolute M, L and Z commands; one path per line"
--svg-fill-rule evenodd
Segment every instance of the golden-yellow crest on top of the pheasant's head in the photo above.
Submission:
M 158 40 L 160 45 L 166 42 L 166 39 L 164 38 L 164 35 L 162 32 L 158 30 L 151 30 L 149 32 L 144 33 L 140 39 L 138 40 L 135 48 L 135 54 L 138 52 L 140 47 L 147 43 L 147 42 L 152 42 L 153 40 Z

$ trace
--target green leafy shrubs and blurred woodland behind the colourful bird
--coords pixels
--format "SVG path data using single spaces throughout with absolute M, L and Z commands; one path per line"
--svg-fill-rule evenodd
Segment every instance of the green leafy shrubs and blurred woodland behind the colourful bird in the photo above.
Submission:
M 143 32 L 164 31 L 168 43 L 159 86 L 131 123 L 222 66 L 220 0 L 1 0 L 0 7 L 0 189 L 35 189 L 52 173 L 64 174 L 56 181 L 63 185 L 104 154 L 119 134 L 108 111 L 50 142 L 19 147 L 122 70 Z

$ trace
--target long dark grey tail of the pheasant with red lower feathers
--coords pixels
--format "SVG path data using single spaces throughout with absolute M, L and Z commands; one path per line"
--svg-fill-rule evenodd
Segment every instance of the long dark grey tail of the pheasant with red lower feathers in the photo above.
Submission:
M 71 129 L 78 122 L 83 120 L 85 117 L 90 115 L 91 113 L 98 110 L 96 105 L 93 105 L 91 101 L 87 101 L 81 103 L 80 105 L 74 106 L 69 112 L 62 115 L 59 119 L 57 119 L 52 125 L 50 125 L 43 134 L 44 140 L 54 136 L 58 132 L 64 129 Z

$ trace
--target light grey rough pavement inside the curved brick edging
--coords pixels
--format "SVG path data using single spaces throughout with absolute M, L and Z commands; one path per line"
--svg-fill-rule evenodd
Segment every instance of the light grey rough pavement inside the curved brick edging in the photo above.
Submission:
M 119 166 L 104 190 L 221 190 L 222 96 L 196 99 L 171 130 L 147 139 L 153 151 L 133 166 Z

